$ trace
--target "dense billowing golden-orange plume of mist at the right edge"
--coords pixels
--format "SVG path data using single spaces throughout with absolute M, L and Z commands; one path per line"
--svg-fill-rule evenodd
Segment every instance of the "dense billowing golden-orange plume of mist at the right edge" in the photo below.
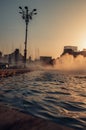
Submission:
M 78 55 L 77 57 L 73 57 L 72 55 L 66 54 L 56 60 L 56 64 L 54 65 L 55 69 L 58 70 L 86 70 L 86 58 L 82 55 Z

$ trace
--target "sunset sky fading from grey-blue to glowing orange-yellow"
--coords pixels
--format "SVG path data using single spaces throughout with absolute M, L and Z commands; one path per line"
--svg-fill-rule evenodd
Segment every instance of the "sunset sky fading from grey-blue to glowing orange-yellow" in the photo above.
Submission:
M 0 0 L 0 51 L 24 52 L 25 21 L 19 6 L 37 15 L 28 26 L 28 56 L 61 55 L 64 46 L 86 48 L 86 0 Z

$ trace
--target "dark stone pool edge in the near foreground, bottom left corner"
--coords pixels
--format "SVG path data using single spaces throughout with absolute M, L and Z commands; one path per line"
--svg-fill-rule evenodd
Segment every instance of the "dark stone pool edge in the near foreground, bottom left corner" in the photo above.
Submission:
M 0 103 L 0 130 L 73 130 Z

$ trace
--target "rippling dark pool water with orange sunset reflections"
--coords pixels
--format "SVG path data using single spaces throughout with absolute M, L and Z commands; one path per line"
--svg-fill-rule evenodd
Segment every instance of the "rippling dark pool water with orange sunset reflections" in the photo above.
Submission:
M 86 75 L 33 71 L 0 79 L 0 102 L 78 130 L 86 129 Z

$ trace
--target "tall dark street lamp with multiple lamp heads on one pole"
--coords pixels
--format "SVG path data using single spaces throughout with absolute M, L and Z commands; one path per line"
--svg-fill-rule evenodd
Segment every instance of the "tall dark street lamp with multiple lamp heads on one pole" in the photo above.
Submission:
M 24 9 L 19 6 L 19 9 L 21 10 L 19 13 L 22 15 L 22 19 L 25 20 L 26 24 L 26 31 L 25 31 L 25 49 L 24 49 L 24 65 L 26 66 L 26 59 L 27 59 L 27 33 L 28 33 L 28 23 L 30 20 L 32 20 L 32 16 L 37 14 L 37 10 L 33 9 L 31 12 L 29 12 L 28 7 L 25 6 Z

